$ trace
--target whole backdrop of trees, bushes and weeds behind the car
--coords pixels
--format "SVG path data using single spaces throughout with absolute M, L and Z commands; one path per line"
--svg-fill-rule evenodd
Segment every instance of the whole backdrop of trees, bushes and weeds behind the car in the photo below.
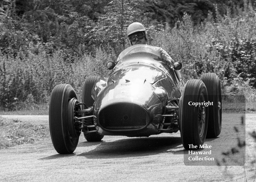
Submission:
M 215 72 L 223 94 L 254 102 L 255 10 L 247 0 L 0 0 L 0 107 L 38 107 L 60 83 L 80 96 L 86 76 L 110 74 L 132 22 L 183 63 L 186 80 Z

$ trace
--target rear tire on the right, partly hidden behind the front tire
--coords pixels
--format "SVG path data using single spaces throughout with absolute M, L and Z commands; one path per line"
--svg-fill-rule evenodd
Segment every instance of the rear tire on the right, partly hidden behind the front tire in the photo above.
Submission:
M 215 138 L 221 132 L 221 88 L 220 79 L 215 73 L 204 73 L 201 77 L 204 82 L 209 102 L 213 102 L 213 106 L 209 106 L 208 129 L 206 138 Z

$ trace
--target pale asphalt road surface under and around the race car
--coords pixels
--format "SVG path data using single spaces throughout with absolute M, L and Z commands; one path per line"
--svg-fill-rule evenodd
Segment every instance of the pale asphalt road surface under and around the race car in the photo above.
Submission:
M 58 154 L 47 137 L 1 149 L 0 181 L 256 181 L 256 143 L 248 135 L 256 129 L 256 114 L 246 114 L 246 127 L 240 124 L 241 115 L 223 113 L 220 136 L 206 139 L 212 146 L 208 157 L 214 161 L 188 161 L 180 132 L 141 138 L 104 136 L 101 142 L 86 142 L 81 135 L 75 153 L 70 155 Z M 49 127 L 48 116 L 3 117 Z M 237 147 L 237 137 L 246 140 L 246 152 Z M 239 152 L 221 154 L 231 148 Z

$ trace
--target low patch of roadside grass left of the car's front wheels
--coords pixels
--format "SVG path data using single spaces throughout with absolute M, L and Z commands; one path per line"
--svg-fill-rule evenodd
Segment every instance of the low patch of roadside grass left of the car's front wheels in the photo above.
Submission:
M 49 135 L 49 131 L 43 125 L 33 125 L 20 120 L 0 117 L 0 149 L 34 143 L 47 135 Z

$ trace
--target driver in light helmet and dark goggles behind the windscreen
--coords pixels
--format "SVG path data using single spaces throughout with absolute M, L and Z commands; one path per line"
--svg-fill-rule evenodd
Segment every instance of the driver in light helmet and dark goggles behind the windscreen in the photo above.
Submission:
M 148 41 L 148 34 L 146 28 L 139 22 L 134 22 L 127 28 L 127 36 L 131 45 L 136 44 L 147 44 Z M 161 55 L 165 57 L 165 59 L 171 62 L 171 65 L 174 63 L 171 56 L 161 47 L 156 47 L 159 49 Z

